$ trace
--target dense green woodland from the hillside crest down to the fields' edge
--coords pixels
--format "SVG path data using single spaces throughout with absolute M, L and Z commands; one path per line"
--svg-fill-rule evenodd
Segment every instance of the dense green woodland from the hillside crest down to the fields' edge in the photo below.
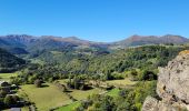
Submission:
M 44 64 L 28 64 L 22 70 L 21 79 L 28 83 L 33 83 L 36 79 L 43 81 L 53 81 L 57 79 L 68 78 L 69 74 L 99 74 L 105 80 L 121 79 L 122 75 L 113 74 L 123 73 L 140 69 L 145 73 L 151 73 L 151 77 L 138 75 L 140 79 L 157 78 L 158 67 L 163 67 L 175 58 L 181 50 L 188 47 L 169 47 L 169 46 L 145 46 L 138 48 L 128 48 L 117 50 L 111 53 L 100 56 L 88 56 L 76 52 L 47 52 L 41 54 Z M 38 58 L 38 59 L 40 59 Z M 149 72 L 151 71 L 151 72 Z M 143 72 L 142 72 L 143 73 Z M 140 73 L 138 73 L 140 74 Z

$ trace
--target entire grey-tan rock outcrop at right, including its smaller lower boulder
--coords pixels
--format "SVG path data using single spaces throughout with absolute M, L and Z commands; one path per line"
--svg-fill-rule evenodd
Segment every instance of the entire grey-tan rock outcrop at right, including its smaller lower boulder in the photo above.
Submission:
M 166 68 L 159 68 L 157 93 L 161 100 L 148 97 L 142 111 L 189 110 L 189 51 L 182 51 Z

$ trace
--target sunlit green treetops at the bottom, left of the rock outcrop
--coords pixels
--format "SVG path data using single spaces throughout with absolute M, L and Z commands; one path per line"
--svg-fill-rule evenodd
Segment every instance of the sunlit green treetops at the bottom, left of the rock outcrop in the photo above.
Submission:
M 156 81 L 142 81 L 135 89 L 119 90 L 117 95 L 93 94 L 88 98 L 77 110 L 88 111 L 140 111 L 147 95 L 157 98 Z M 82 110 L 83 111 L 83 110 Z

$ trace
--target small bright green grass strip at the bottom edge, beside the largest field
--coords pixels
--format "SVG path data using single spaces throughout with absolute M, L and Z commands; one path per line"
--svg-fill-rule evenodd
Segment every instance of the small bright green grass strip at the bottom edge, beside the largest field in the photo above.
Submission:
M 54 111 L 72 111 L 74 108 L 79 107 L 80 105 L 80 102 L 79 101 L 76 101 L 69 105 L 66 105 L 66 107 L 61 107 Z

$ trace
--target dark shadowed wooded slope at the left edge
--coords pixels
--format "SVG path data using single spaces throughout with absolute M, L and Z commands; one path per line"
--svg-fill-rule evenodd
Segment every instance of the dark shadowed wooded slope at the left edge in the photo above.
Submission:
M 19 70 L 26 64 L 26 61 L 0 49 L 0 72 L 11 72 Z

